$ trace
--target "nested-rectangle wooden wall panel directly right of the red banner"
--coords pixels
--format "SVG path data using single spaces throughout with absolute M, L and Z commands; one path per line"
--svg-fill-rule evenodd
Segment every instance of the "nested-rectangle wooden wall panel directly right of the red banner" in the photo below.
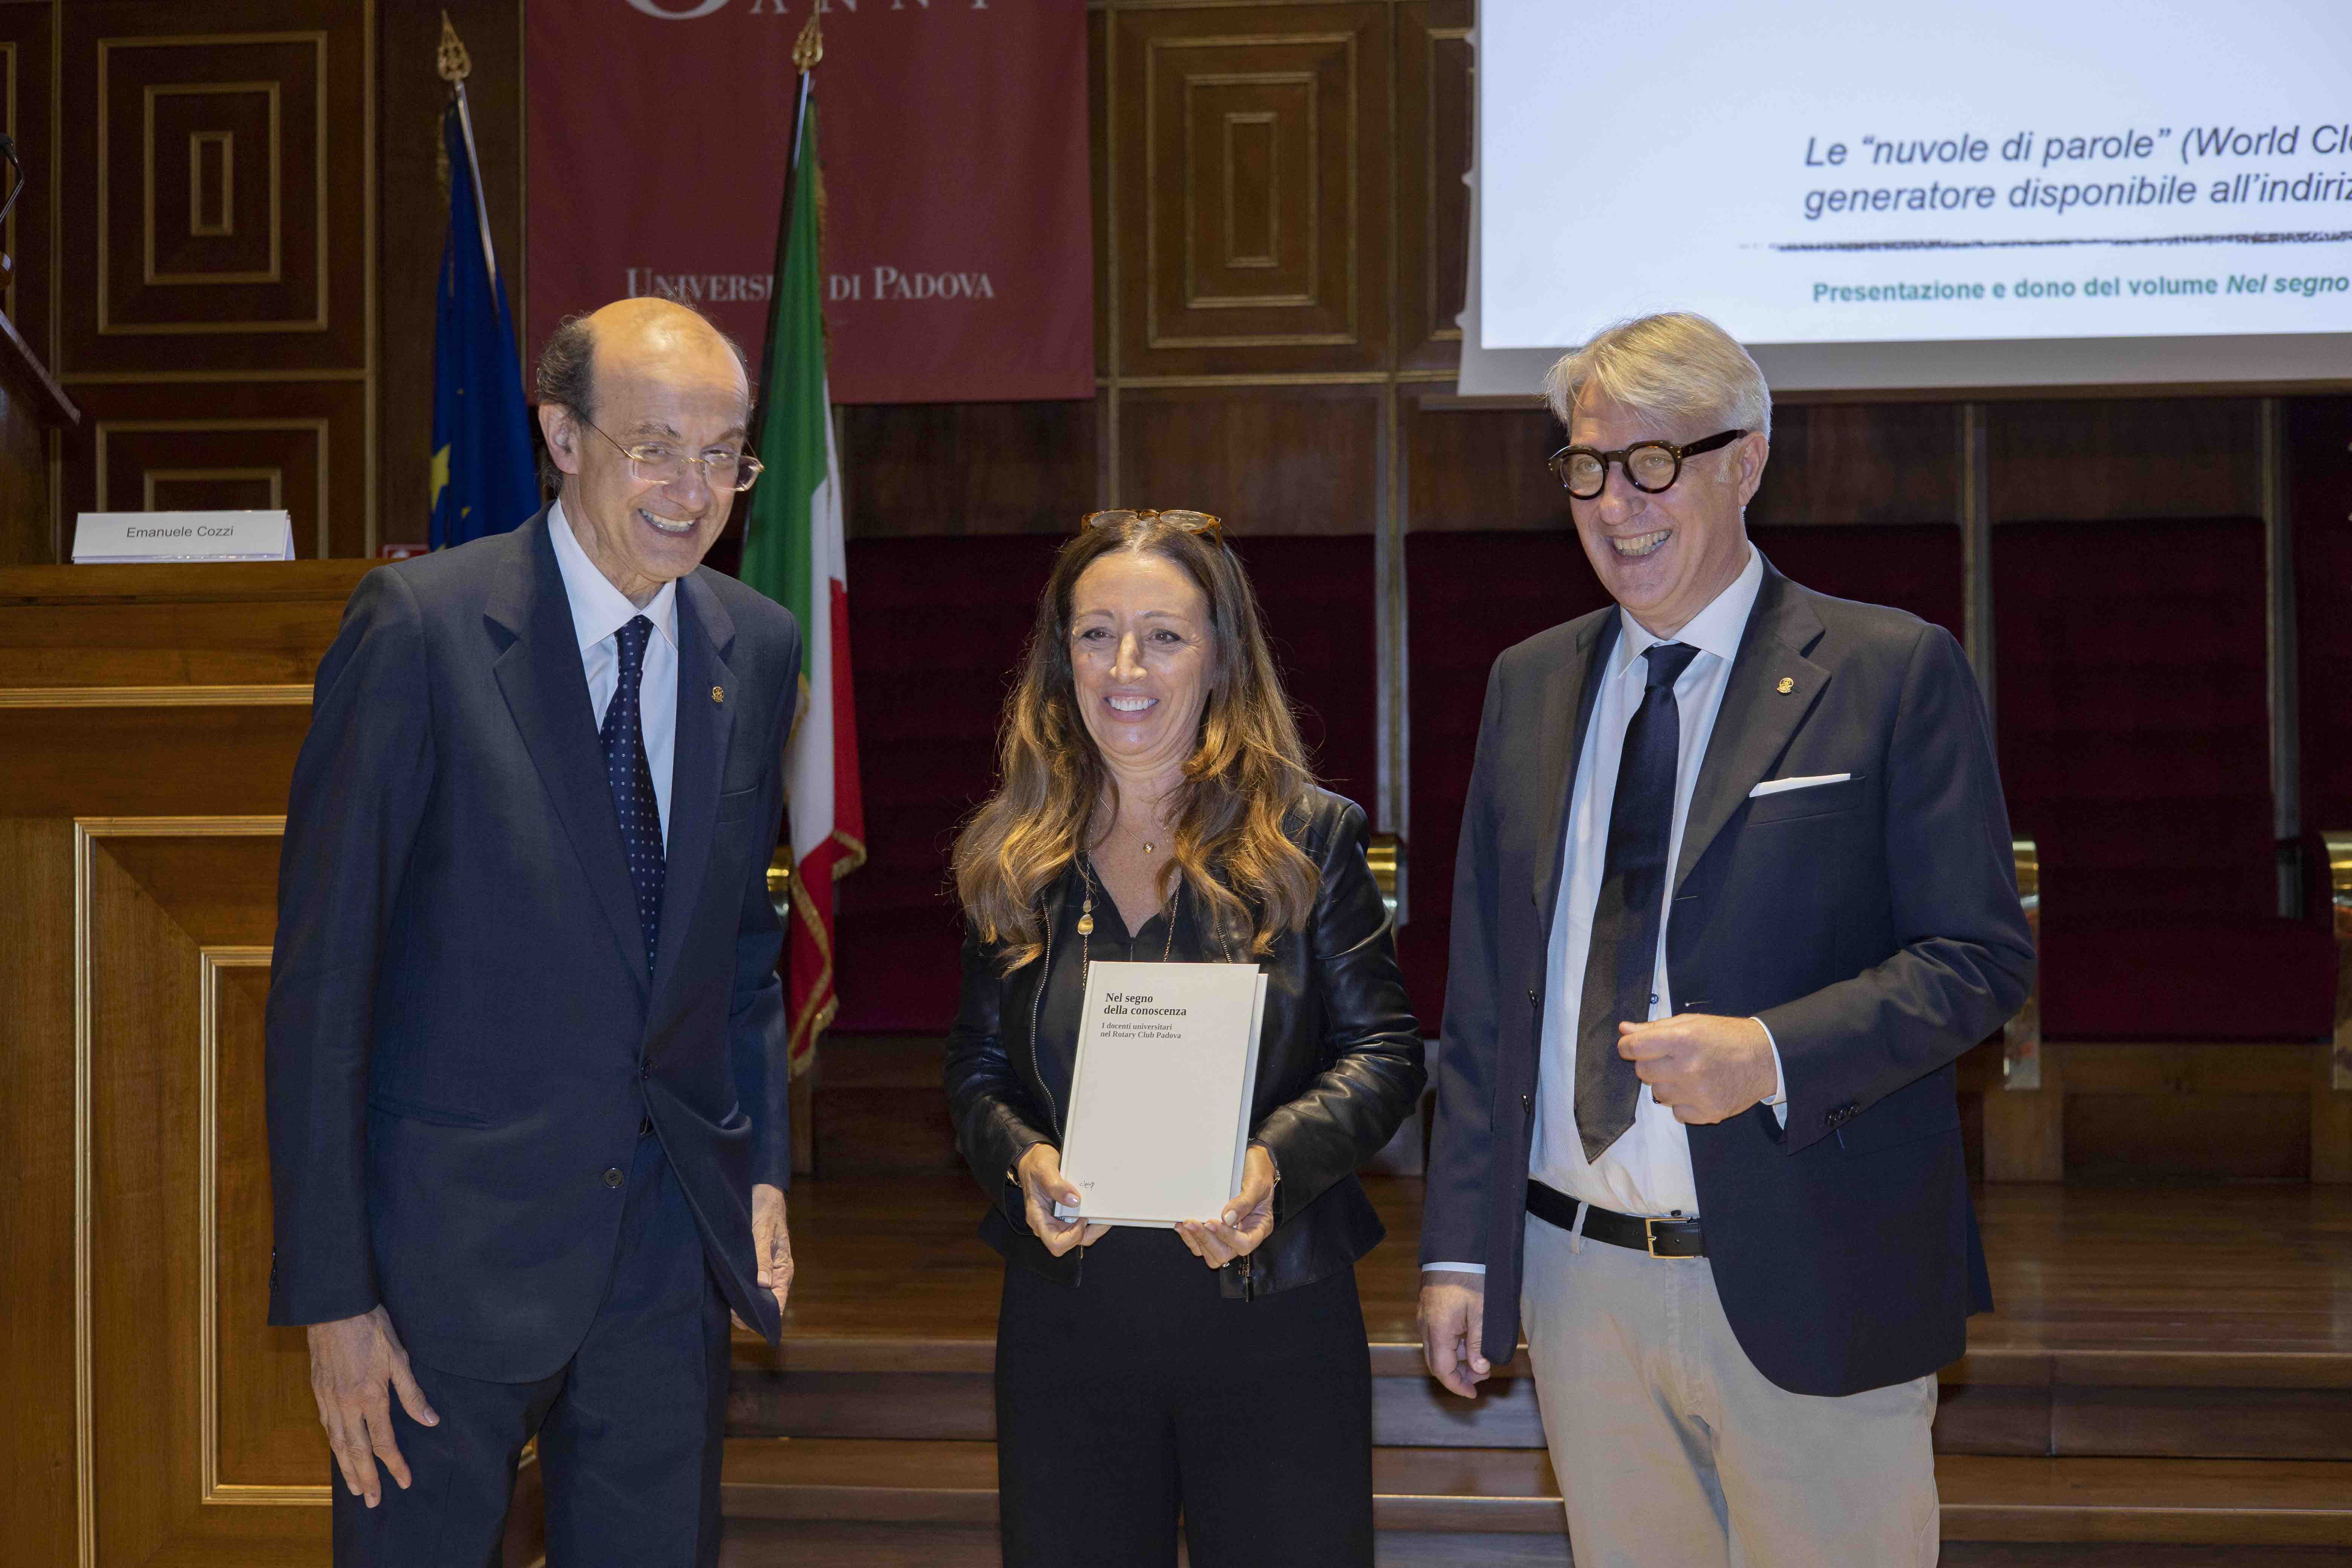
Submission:
M 1385 371 L 1390 7 L 1122 9 L 1122 376 Z

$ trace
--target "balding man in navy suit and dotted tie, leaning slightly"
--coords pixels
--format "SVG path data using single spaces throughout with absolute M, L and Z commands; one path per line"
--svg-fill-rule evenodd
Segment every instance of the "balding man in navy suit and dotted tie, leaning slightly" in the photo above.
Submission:
M 310 1328 L 336 1563 L 717 1561 L 727 1314 L 790 1284 L 767 863 L 793 616 L 701 569 L 741 353 L 649 299 L 539 367 L 557 501 L 372 571 L 294 766 L 270 1321 Z M 390 1474 L 395 1488 L 383 1486 Z

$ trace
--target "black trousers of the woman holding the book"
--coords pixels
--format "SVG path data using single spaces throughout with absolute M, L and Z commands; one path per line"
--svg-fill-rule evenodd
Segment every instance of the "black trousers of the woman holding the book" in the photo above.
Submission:
M 1256 1300 L 1174 1232 L 1080 1284 L 1004 1267 L 1004 1568 L 1371 1568 L 1371 1352 L 1355 1272 Z

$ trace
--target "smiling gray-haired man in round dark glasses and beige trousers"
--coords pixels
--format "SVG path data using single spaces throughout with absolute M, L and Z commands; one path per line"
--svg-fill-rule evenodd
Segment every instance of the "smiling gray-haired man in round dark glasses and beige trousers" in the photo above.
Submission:
M 1616 607 L 1505 651 L 1454 884 L 1421 1331 L 1526 1324 L 1578 1568 L 1936 1561 L 1936 1368 L 1990 1309 L 1952 1060 L 2027 992 L 1940 628 L 1748 543 L 1771 400 L 1696 315 L 1552 371 Z

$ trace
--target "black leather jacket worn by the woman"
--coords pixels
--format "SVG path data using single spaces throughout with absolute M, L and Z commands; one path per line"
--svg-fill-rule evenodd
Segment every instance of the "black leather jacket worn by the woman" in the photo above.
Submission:
M 1282 1180 L 1275 1234 L 1223 1269 L 1223 1293 L 1244 1300 L 1336 1274 L 1381 1241 L 1385 1232 L 1355 1168 L 1390 1140 L 1428 1081 L 1388 907 L 1364 863 L 1364 811 L 1317 790 L 1291 837 L 1322 867 L 1322 891 L 1305 931 L 1282 933 L 1258 964 L 1265 1027 L 1254 1143 L 1275 1157 Z M 1037 1030 L 1040 1018 L 1073 1034 L 1077 1027 L 1077 879 L 1073 867 L 1047 884 L 1047 952 L 1009 976 L 997 969 L 1000 950 L 967 931 L 964 997 L 948 1032 L 955 1147 L 990 1197 L 981 1239 L 1009 1262 L 1070 1286 L 1082 1279 L 1084 1248 L 1061 1258 L 1044 1251 L 1011 1171 L 1033 1145 L 1061 1143 L 1058 1110 L 1070 1103 L 1068 1065 L 1044 1053 L 1040 1074 Z M 1223 957 L 1202 952 L 1197 922 L 1178 919 L 1171 940 L 1178 959 Z

